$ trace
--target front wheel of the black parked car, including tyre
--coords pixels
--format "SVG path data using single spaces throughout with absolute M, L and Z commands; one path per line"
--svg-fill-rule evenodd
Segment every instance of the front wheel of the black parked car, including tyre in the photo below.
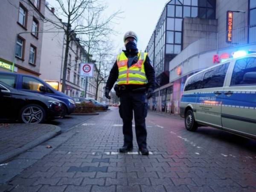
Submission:
M 37 104 L 26 105 L 20 110 L 19 119 L 23 123 L 42 123 L 45 119 L 45 110 Z

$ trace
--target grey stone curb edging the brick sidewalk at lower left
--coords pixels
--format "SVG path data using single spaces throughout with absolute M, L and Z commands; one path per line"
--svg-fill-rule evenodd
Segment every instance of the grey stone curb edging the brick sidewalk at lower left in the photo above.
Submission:
M 3 163 L 21 153 L 23 153 L 24 151 L 27 151 L 29 150 L 30 148 L 33 148 L 37 145 L 40 145 L 41 143 L 44 143 L 45 141 L 51 139 L 52 137 L 55 137 L 56 135 L 59 135 L 61 134 L 61 128 L 56 126 L 56 125 L 52 125 L 55 127 L 55 131 L 50 131 L 48 132 L 47 134 L 41 136 L 41 137 L 38 137 L 36 140 L 33 140 L 25 145 L 23 145 L 22 147 L 20 148 L 16 148 L 12 151 L 9 151 L 5 154 L 2 154 L 0 155 L 0 163 Z

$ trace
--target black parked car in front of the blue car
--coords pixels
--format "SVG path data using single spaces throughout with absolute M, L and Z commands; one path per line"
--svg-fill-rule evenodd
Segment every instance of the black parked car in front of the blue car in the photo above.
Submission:
M 62 115 L 62 102 L 58 99 L 17 90 L 0 81 L 0 119 L 42 123 Z

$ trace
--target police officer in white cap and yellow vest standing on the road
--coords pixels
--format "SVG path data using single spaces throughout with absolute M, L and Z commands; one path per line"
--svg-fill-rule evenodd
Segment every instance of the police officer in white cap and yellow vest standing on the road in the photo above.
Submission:
M 126 50 L 117 56 L 105 87 L 105 96 L 111 99 L 109 92 L 113 84 L 116 94 L 120 96 L 119 114 L 123 121 L 124 145 L 119 152 L 133 150 L 132 119 L 134 111 L 135 132 L 139 151 L 148 155 L 147 131 L 145 117 L 147 116 L 148 102 L 155 86 L 155 71 L 146 52 L 137 49 L 137 35 L 128 31 L 124 35 Z

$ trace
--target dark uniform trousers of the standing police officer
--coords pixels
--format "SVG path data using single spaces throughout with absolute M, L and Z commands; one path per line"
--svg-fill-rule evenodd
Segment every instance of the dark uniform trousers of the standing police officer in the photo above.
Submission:
M 131 91 L 121 93 L 119 114 L 123 121 L 124 146 L 133 146 L 133 112 L 138 146 L 139 148 L 147 146 L 147 130 L 145 125 L 147 111 L 148 103 L 145 93 L 133 93 Z

